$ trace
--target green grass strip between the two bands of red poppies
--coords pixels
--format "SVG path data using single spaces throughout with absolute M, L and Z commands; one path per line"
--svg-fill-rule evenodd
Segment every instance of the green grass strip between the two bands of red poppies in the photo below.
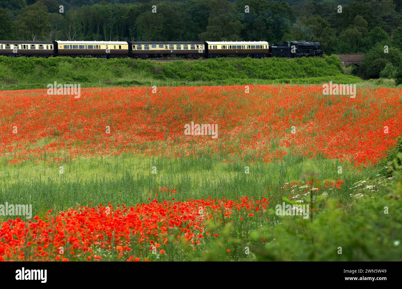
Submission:
M 341 165 L 343 173 L 335 169 Z M 59 173 L 63 166 L 64 173 Z M 152 167 L 156 167 L 156 174 Z M 249 166 L 250 173 L 245 173 Z M 224 163 L 210 156 L 197 159 L 166 159 L 141 155 L 76 158 L 64 163 L 23 162 L 0 166 L 0 199 L 8 203 L 33 205 L 41 215 L 53 206 L 57 210 L 90 202 L 135 205 L 149 202 L 160 187 L 177 189 L 177 200 L 189 198 L 228 198 L 273 196 L 279 203 L 285 195 L 283 184 L 297 180 L 306 171 L 319 172 L 320 180 L 345 180 L 341 190 L 333 191 L 346 201 L 354 182 L 376 174 L 375 168 L 354 168 L 337 161 L 285 156 L 281 161 Z M 332 192 L 329 191 L 331 194 Z M 159 194 L 160 200 L 169 196 Z M 0 219 L 4 216 L 0 216 Z

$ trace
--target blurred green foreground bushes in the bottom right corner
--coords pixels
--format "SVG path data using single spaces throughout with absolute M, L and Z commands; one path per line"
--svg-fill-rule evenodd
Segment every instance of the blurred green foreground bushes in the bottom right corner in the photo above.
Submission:
M 316 201 L 326 208 L 314 221 L 281 216 L 277 225 L 256 226 L 246 240 L 241 240 L 240 228 L 232 222 L 219 232 L 218 241 L 225 243 L 224 248 L 236 248 L 238 260 L 401 261 L 402 153 L 395 157 L 388 169 L 391 180 L 382 176 L 356 182 L 344 202 L 319 195 Z M 211 245 L 204 260 L 224 258 L 220 247 Z M 244 248 L 249 248 L 249 255 Z

